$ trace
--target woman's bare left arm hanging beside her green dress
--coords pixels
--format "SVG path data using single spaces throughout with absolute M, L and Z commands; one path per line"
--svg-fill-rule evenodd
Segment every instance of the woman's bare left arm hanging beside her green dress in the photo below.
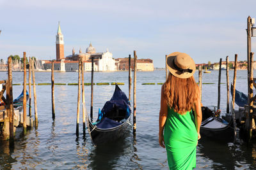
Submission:
M 168 112 L 168 105 L 166 103 L 166 99 L 164 98 L 163 86 L 161 89 L 161 106 L 159 111 L 159 145 L 165 148 L 164 145 L 164 124 L 166 122 L 167 112 Z

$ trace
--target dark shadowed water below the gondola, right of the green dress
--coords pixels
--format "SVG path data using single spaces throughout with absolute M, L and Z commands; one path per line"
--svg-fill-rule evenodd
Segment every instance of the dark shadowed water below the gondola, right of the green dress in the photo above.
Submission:
M 211 139 L 200 139 L 197 148 L 198 169 L 255 169 L 256 145 L 219 143 Z M 203 158 L 203 159 L 202 159 Z M 198 164 L 198 163 L 197 163 Z

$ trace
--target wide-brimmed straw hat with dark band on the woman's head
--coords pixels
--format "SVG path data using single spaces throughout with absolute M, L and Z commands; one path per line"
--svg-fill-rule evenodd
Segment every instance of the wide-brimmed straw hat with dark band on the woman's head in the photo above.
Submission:
M 170 53 L 166 58 L 168 70 L 178 78 L 189 78 L 196 70 L 194 60 L 186 53 Z

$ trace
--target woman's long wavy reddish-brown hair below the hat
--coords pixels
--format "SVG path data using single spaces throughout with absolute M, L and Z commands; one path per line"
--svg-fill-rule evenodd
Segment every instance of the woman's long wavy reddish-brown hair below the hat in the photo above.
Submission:
M 168 106 L 180 115 L 193 109 L 199 97 L 199 88 L 194 76 L 177 78 L 169 73 L 163 84 L 163 92 Z

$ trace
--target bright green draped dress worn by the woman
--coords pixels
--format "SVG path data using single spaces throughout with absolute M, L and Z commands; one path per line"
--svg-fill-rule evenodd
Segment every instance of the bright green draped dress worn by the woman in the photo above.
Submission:
M 168 108 L 164 125 L 164 144 L 170 169 L 196 167 L 196 143 L 198 134 L 192 111 L 180 115 Z

